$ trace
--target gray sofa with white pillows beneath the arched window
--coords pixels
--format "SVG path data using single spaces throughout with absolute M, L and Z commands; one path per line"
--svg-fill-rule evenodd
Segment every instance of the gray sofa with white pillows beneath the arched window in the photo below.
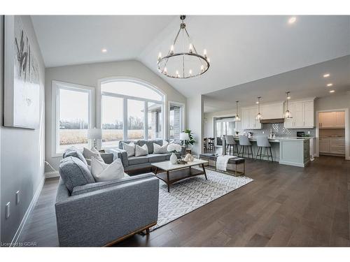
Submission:
M 123 150 L 123 143 L 131 143 L 133 142 L 135 145 L 143 146 L 144 144 L 148 147 L 148 155 L 141 157 L 127 157 L 127 152 Z M 113 147 L 106 149 L 106 152 L 113 153 L 114 159 L 119 158 L 123 162 L 124 170 L 132 171 L 141 168 L 151 168 L 151 163 L 168 161 L 170 159 L 171 153 L 165 154 L 153 154 L 153 143 L 158 145 L 162 145 L 163 140 L 137 140 L 137 141 L 120 141 L 118 147 Z M 178 157 L 186 154 L 186 148 L 183 147 L 182 151 L 177 154 Z

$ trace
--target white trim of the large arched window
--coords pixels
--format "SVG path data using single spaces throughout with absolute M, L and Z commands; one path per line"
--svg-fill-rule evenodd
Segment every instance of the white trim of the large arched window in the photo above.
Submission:
M 123 95 L 123 94 L 115 94 L 115 93 L 111 93 L 111 92 L 102 92 L 101 89 L 101 85 L 105 84 L 107 82 L 134 82 L 137 83 L 139 85 L 144 85 L 145 87 L 148 87 L 150 89 L 152 89 L 153 91 L 157 92 L 158 94 L 160 94 L 160 96 L 162 96 L 162 100 L 161 101 L 157 101 L 157 100 L 152 100 L 152 99 L 142 99 L 141 97 L 137 97 L 137 96 L 127 96 L 127 95 Z M 96 96 L 96 105 L 97 105 L 97 126 L 99 126 L 99 128 L 102 129 L 102 95 L 106 95 L 106 96 L 113 96 L 113 97 L 118 97 L 118 98 L 123 98 L 123 140 L 127 140 L 127 99 L 132 99 L 132 100 L 138 100 L 138 101 L 145 101 L 147 102 L 153 102 L 153 103 L 159 103 L 162 105 L 162 126 L 163 127 L 163 138 L 161 139 L 167 139 L 166 134 L 168 133 L 168 131 L 165 131 L 166 128 L 166 117 L 165 115 L 168 112 L 165 112 L 165 103 L 167 101 L 167 94 L 165 94 L 164 92 L 162 92 L 162 90 L 158 89 L 158 87 L 155 87 L 154 85 L 152 85 L 149 82 L 146 82 L 145 80 L 141 80 L 139 78 L 130 78 L 130 77 L 124 77 L 124 76 L 117 76 L 117 77 L 110 77 L 110 78 L 102 78 L 99 79 L 97 82 L 97 96 Z M 145 109 L 146 109 L 146 103 L 145 103 Z M 148 120 L 148 110 L 145 110 L 145 116 L 144 116 L 144 139 L 148 140 L 148 129 L 147 129 L 147 124 L 146 121 Z M 102 147 L 102 141 L 101 141 L 101 147 Z M 99 147 L 99 148 L 101 148 Z

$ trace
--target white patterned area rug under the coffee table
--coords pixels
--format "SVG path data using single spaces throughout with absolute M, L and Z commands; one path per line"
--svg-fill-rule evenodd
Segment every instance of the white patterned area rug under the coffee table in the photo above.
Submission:
M 151 230 L 164 226 L 253 181 L 249 177 L 234 177 L 209 169 L 206 171 L 208 180 L 205 180 L 204 175 L 188 178 L 172 184 L 170 193 L 167 191 L 167 184 L 160 181 L 158 224 Z

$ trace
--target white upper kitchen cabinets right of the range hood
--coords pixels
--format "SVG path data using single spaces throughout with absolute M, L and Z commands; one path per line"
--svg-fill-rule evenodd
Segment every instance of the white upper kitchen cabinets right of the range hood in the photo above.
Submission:
M 288 109 L 293 118 L 284 121 L 286 129 L 314 128 L 314 99 L 290 101 L 288 102 Z

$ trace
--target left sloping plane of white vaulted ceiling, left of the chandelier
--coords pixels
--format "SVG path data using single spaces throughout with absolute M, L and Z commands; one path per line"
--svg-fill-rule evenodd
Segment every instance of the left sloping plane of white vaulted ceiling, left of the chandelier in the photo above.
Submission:
M 32 15 L 45 66 L 138 59 L 175 16 Z M 106 48 L 107 52 L 102 53 Z

